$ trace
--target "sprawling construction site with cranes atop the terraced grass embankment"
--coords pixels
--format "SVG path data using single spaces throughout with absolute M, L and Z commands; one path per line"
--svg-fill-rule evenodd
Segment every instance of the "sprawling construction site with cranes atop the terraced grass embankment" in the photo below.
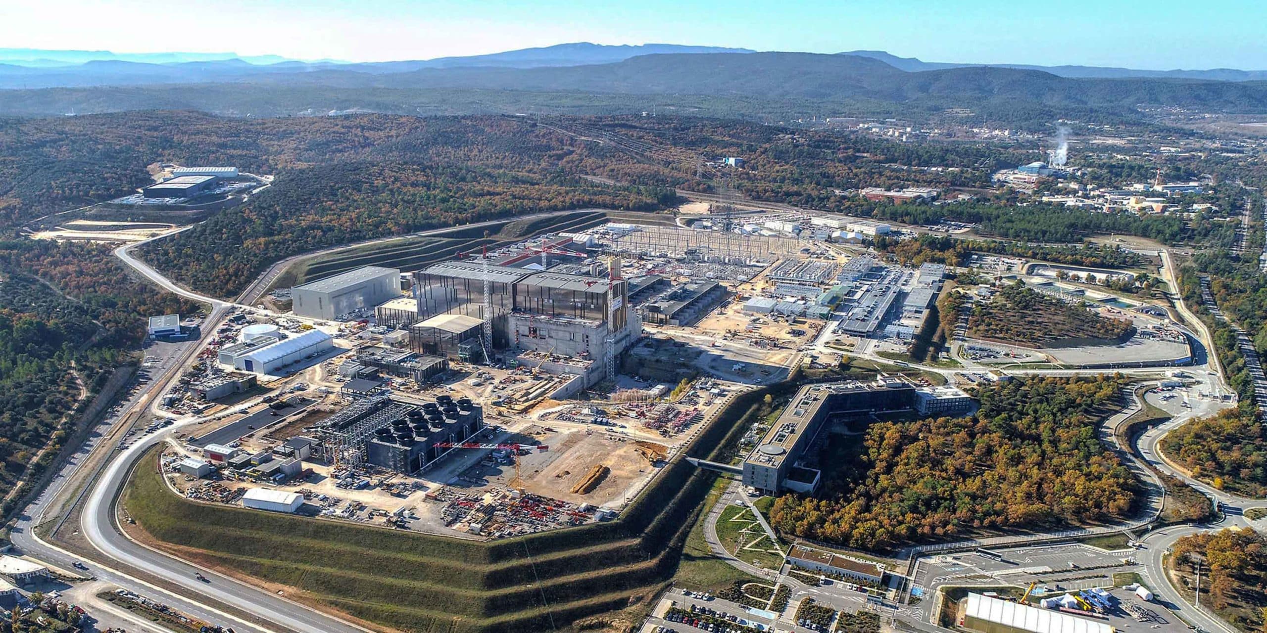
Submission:
M 169 481 L 210 503 L 468 538 L 614 518 L 730 396 L 786 379 L 831 334 L 817 310 L 758 314 L 754 298 L 914 275 L 744 230 L 608 223 L 305 281 L 293 315 L 234 316 L 203 352 L 207 376 L 170 406 L 212 420 L 169 451 Z M 340 353 L 262 371 L 239 357 L 267 365 L 258 349 L 317 342 L 314 328 Z

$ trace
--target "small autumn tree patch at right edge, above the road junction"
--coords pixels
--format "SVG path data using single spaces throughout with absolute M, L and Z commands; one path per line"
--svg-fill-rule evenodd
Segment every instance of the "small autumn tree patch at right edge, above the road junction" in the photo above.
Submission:
M 1253 415 L 1228 409 L 1169 432 L 1166 456 L 1219 490 L 1267 496 L 1267 439 Z

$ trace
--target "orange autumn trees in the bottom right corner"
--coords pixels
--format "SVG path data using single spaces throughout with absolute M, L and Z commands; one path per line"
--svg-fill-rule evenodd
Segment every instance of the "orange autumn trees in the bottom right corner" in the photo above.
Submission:
M 1267 542 L 1253 529 L 1223 529 L 1183 537 L 1171 556 L 1177 571 L 1202 573 L 1201 605 L 1247 633 L 1267 622 Z

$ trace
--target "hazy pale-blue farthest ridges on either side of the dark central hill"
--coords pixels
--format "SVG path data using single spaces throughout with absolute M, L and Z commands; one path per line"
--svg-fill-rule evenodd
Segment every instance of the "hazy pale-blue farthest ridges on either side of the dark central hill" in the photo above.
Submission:
M 275 81 L 284 75 L 321 77 L 348 75 L 398 75 L 446 68 L 563 68 L 612 65 L 653 54 L 749 54 L 746 48 L 679 44 L 604 46 L 588 42 L 525 48 L 468 57 L 394 62 L 299 61 L 280 56 L 237 56 L 234 53 L 111 53 L 108 51 L 41 51 L 0 48 L 0 89 L 41 89 L 71 86 L 136 86 L 150 84 L 204 84 L 224 81 Z M 810 54 L 810 53 L 763 53 Z M 822 57 L 822 56 L 820 56 Z M 925 62 L 897 57 L 882 51 L 850 51 L 835 57 L 865 57 L 906 72 L 957 68 L 1009 68 L 1041 71 L 1067 78 L 1182 78 L 1211 81 L 1263 81 L 1267 71 L 1233 68 L 1142 71 L 1095 66 L 1030 66 Z M 466 80 L 464 80 L 466 81 Z

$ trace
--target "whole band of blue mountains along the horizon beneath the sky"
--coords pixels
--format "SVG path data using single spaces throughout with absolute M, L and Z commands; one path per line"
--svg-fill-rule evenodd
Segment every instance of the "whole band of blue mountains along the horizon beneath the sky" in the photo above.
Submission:
M 1072 77 L 1052 71 L 939 65 L 877 52 L 761 53 L 588 43 L 376 63 L 104 60 L 54 67 L 0 65 L 0 87 L 39 89 L 0 90 L 0 115 L 138 109 L 236 116 L 628 114 L 658 105 L 660 111 L 758 120 L 971 113 L 1000 125 L 1035 127 L 1058 118 L 1142 122 L 1145 109 L 1157 106 L 1267 113 L 1267 81 Z

